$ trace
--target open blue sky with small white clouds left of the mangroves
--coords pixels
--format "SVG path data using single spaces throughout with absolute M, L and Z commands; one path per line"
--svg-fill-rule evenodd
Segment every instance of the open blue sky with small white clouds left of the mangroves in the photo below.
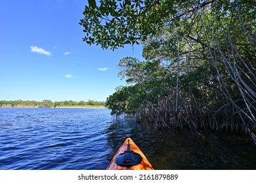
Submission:
M 105 101 L 117 63 L 142 59 L 141 46 L 114 52 L 89 46 L 79 20 L 87 0 L 0 2 L 0 100 Z

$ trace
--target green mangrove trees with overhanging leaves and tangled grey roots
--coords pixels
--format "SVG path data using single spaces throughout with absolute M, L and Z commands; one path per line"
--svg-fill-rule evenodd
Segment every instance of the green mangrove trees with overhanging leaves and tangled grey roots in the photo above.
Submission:
M 256 4 L 253 0 L 95 0 L 84 8 L 83 41 L 115 50 L 142 44 L 143 58 L 120 60 L 112 114 L 157 127 L 247 133 L 256 143 Z

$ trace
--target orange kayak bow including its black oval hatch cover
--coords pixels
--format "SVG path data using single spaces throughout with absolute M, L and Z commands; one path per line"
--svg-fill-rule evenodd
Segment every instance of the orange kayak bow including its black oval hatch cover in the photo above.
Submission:
M 127 138 L 107 166 L 107 170 L 153 170 L 138 146 Z

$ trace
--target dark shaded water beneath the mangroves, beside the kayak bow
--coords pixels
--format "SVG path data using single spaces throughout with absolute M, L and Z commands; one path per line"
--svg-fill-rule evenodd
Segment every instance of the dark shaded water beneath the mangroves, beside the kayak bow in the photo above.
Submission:
M 155 169 L 256 169 L 256 146 L 249 137 L 204 131 L 155 129 L 133 120 L 113 122 L 106 129 L 107 160 L 111 161 L 126 137 L 131 137 Z

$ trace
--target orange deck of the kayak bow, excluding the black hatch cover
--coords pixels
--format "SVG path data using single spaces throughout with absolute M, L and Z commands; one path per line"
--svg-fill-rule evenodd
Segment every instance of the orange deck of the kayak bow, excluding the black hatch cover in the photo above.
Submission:
M 139 154 L 142 158 L 141 162 L 138 165 L 134 165 L 132 167 L 124 167 L 124 166 L 119 166 L 115 162 L 115 159 L 119 154 L 122 154 L 128 149 L 128 143 L 130 143 L 130 150 L 133 152 Z M 111 160 L 109 163 L 107 170 L 153 170 L 153 167 L 151 163 L 149 163 L 149 160 L 145 157 L 143 152 L 138 148 L 138 146 L 132 141 L 132 139 L 127 138 L 126 141 L 120 146 L 119 150 L 117 151 L 117 154 L 115 154 L 114 158 Z

